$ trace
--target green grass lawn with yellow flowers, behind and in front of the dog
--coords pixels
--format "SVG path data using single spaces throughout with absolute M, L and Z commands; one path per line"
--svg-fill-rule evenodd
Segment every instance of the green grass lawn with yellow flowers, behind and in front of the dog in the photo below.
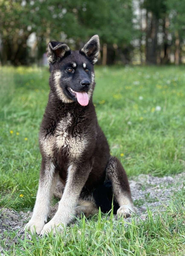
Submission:
M 48 79 L 46 68 L 0 68 L 0 208 L 33 209 Z M 96 67 L 95 81 L 99 124 L 128 176 L 185 171 L 184 67 Z M 148 220 L 133 217 L 125 228 L 123 220 L 99 213 L 55 238 L 25 238 L 6 255 L 184 255 L 184 196 L 155 220 L 148 210 Z

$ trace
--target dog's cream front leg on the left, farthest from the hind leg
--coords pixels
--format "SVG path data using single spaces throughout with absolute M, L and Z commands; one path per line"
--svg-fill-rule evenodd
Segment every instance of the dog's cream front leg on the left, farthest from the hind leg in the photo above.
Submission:
M 33 215 L 31 220 L 25 226 L 33 234 L 39 235 L 47 222 L 47 216 L 50 207 L 50 201 L 53 195 L 53 188 L 56 184 L 55 166 L 51 160 L 42 160 L 39 189 Z

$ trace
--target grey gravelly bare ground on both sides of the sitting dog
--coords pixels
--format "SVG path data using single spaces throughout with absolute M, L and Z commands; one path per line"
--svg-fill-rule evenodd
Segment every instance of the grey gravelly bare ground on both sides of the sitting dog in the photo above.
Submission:
M 153 177 L 152 175 L 139 175 L 130 179 L 130 188 L 134 204 L 138 208 L 138 216 L 136 219 L 145 220 L 147 218 L 147 207 L 155 216 L 160 211 L 165 211 L 166 206 L 173 195 L 181 190 L 185 183 L 185 172 L 177 174 L 173 177 Z M 49 218 L 52 218 L 57 210 L 58 204 L 51 207 Z M 10 209 L 0 209 L 0 239 L 4 239 L 6 250 L 12 243 L 17 243 L 17 237 L 24 239 L 24 226 L 31 217 L 32 212 L 15 212 Z M 116 218 L 116 216 L 115 216 Z M 126 222 L 130 222 L 131 218 L 127 218 Z M 14 238 L 7 236 L 7 232 L 15 231 L 17 235 Z M 3 254 L 3 248 L 0 246 L 0 254 Z

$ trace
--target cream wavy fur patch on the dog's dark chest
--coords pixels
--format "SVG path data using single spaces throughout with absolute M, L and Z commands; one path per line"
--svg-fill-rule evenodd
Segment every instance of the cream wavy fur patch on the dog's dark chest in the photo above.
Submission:
M 67 154 L 71 160 L 79 158 L 88 144 L 83 133 L 82 124 L 68 113 L 56 126 L 53 134 L 48 134 L 41 140 L 45 153 L 50 156 Z

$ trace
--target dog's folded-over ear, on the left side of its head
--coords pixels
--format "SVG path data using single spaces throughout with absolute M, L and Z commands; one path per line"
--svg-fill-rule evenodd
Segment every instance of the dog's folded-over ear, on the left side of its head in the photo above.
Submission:
M 64 57 L 65 53 L 70 51 L 70 48 L 67 44 L 63 42 L 49 42 L 48 44 L 48 62 L 53 64 L 55 61 L 60 60 Z

